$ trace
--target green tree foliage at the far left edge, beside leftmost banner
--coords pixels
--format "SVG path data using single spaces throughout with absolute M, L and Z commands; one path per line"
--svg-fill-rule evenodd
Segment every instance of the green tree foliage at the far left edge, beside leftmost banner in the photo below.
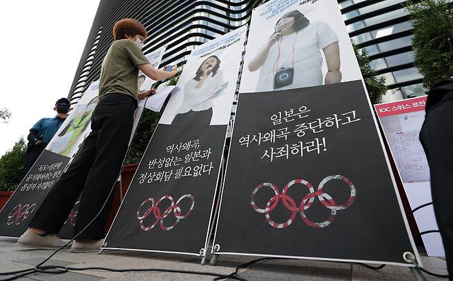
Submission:
M 0 158 L 0 191 L 12 191 L 21 183 L 23 160 L 25 159 L 25 141 L 20 138 L 12 149 Z

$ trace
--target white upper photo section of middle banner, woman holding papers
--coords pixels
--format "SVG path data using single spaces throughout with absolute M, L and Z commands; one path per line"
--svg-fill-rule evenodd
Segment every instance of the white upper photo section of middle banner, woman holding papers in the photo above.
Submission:
M 193 50 L 178 81 L 181 88 L 173 94 L 160 124 L 227 125 L 238 81 L 240 41 L 245 27 Z

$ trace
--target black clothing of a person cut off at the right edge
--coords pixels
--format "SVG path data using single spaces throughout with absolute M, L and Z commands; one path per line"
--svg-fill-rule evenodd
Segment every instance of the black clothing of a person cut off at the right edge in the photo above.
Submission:
M 431 173 L 434 214 L 441 231 L 450 280 L 453 280 L 453 99 L 428 112 L 420 141 Z

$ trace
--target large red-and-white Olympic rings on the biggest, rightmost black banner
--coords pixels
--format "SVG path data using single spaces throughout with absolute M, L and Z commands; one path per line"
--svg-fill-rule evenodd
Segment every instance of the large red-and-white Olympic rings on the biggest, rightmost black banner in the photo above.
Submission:
M 350 191 L 350 196 L 344 204 L 337 205 L 337 203 L 332 198 L 332 196 L 330 196 L 329 194 L 326 194 L 326 192 L 324 192 L 324 190 L 323 190 L 324 185 L 326 185 L 326 183 L 330 180 L 341 180 L 342 182 L 346 183 L 346 185 L 348 185 L 349 191 Z M 293 185 L 297 185 L 297 184 L 304 185 L 305 187 L 308 188 L 308 191 L 310 191 L 309 194 L 307 194 L 304 198 L 302 198 L 302 200 L 299 203 L 299 206 L 296 205 L 296 202 L 295 202 L 295 200 L 293 200 L 293 198 L 291 198 L 290 196 L 288 196 L 286 194 L 288 192 L 288 189 L 290 189 Z M 275 194 L 268 200 L 264 209 L 258 207 L 255 202 L 255 196 L 256 196 L 257 191 L 259 191 L 263 187 L 271 187 L 271 189 L 273 189 L 274 194 Z M 284 187 L 282 193 L 280 193 L 280 191 L 278 191 L 277 187 L 275 185 L 273 185 L 272 183 L 260 183 L 260 185 L 257 185 L 257 187 L 255 187 L 255 189 L 253 189 L 253 191 L 252 191 L 251 205 L 255 211 L 257 211 L 260 214 L 264 214 L 264 216 L 266 217 L 266 221 L 268 222 L 269 225 L 271 225 L 272 227 L 275 227 L 277 229 L 286 228 L 289 225 L 291 225 L 294 222 L 297 213 L 299 213 L 299 215 L 301 216 L 302 220 L 306 223 L 306 225 L 308 225 L 310 227 L 314 227 L 314 228 L 323 228 L 323 227 L 327 227 L 328 225 L 330 225 L 330 223 L 333 222 L 333 220 L 335 219 L 335 216 L 337 216 L 338 211 L 341 211 L 341 210 L 344 210 L 344 209 L 347 209 L 348 207 L 350 207 L 350 205 L 352 205 L 352 203 L 354 202 L 356 196 L 357 195 L 356 195 L 355 186 L 352 183 L 352 181 L 350 181 L 348 178 L 346 178 L 346 176 L 333 175 L 333 176 L 326 176 L 326 178 L 321 180 L 321 183 L 319 183 L 316 191 L 313 188 L 313 185 L 308 183 L 308 181 L 300 180 L 300 179 L 291 180 L 291 182 L 289 182 Z M 330 216 L 326 220 L 324 220 L 324 222 L 313 222 L 306 217 L 305 211 L 310 209 L 310 207 L 313 205 L 313 202 L 315 201 L 315 198 L 317 198 L 324 207 L 326 207 L 327 209 L 330 209 Z M 286 209 L 291 211 L 291 216 L 285 222 L 275 222 L 271 218 L 271 211 L 273 211 L 273 209 L 275 209 L 275 207 L 277 207 L 277 204 L 280 200 L 282 200 L 283 205 L 286 207 Z

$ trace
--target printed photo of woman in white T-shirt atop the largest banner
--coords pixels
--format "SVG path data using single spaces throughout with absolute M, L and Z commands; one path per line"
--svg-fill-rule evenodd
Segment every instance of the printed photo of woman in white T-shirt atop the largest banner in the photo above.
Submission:
M 270 1 L 253 12 L 240 92 L 266 92 L 361 79 L 333 0 Z M 321 12 L 322 11 L 322 12 Z

